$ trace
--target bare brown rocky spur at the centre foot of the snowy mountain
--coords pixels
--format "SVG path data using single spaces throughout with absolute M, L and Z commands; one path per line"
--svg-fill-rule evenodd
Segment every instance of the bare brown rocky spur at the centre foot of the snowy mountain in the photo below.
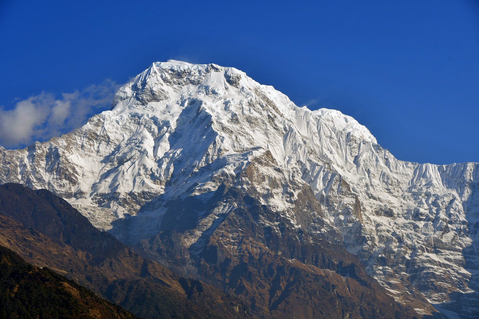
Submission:
M 421 295 L 404 296 L 404 302 L 389 296 L 359 259 L 346 252 L 341 234 L 325 221 L 307 185 L 272 181 L 274 169 L 280 170 L 273 162 L 266 152 L 238 176 L 221 177 L 223 184 L 196 223 L 198 205 L 189 199 L 194 197 L 175 203 L 163 218 L 164 231 L 140 241 L 137 252 L 221 287 L 262 318 L 439 315 Z M 290 217 L 262 205 L 259 185 L 265 180 L 299 190 Z M 300 228 L 291 223 L 292 214 Z

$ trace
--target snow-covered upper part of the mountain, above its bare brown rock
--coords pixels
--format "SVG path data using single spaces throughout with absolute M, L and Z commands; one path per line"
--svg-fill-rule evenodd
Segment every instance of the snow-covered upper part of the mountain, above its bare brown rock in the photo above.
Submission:
M 234 188 L 294 229 L 343 242 L 418 313 L 431 310 L 420 291 L 450 318 L 479 316 L 479 164 L 399 161 L 352 117 L 297 107 L 235 68 L 153 63 L 112 110 L 0 154 L 1 183 L 47 188 L 126 243 L 172 229 L 198 263 L 239 205 L 217 204 Z M 283 236 L 281 222 L 258 220 Z

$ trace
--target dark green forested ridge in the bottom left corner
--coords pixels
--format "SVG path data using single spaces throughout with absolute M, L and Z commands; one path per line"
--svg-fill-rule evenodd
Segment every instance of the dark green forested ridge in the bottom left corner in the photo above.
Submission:
M 0 318 L 137 318 L 91 290 L 0 246 Z

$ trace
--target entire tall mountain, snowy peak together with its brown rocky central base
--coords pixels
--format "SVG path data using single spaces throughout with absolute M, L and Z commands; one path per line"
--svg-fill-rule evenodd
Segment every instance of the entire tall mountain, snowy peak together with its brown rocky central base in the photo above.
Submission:
M 1 183 L 48 189 L 249 316 L 479 316 L 479 165 L 399 161 L 235 68 L 153 63 L 112 110 L 0 154 Z

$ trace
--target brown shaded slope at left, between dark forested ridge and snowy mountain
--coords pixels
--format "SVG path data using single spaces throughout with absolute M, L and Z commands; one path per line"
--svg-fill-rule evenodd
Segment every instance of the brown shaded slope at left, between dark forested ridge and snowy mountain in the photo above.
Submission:
M 142 258 L 51 192 L 0 186 L 0 244 L 143 318 L 249 318 L 242 302 Z

